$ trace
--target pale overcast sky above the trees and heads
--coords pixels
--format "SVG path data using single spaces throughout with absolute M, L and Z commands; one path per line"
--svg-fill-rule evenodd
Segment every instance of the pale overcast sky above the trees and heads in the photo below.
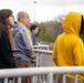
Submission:
M 35 12 L 34 12 L 34 3 Z M 19 11 L 27 11 L 30 14 L 31 22 L 49 21 L 60 14 L 69 11 L 78 11 L 84 13 L 84 0 L 0 0 L 0 9 L 9 8 L 13 11 L 17 19 Z

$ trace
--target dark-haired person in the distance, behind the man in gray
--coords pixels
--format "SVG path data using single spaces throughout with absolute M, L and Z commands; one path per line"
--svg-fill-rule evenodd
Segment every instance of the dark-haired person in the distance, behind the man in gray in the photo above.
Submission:
M 30 30 L 31 30 L 31 34 L 32 34 L 32 43 L 33 43 L 33 45 L 39 45 L 38 42 L 36 42 L 36 40 L 35 40 L 35 35 L 36 35 L 38 32 L 39 32 L 38 25 L 36 25 L 36 24 L 32 24 L 32 25 L 30 27 Z

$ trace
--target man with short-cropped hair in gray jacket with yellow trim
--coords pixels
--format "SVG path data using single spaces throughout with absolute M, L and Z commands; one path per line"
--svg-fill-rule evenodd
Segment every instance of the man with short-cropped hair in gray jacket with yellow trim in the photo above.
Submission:
M 18 68 L 32 68 L 35 53 L 33 51 L 31 32 L 28 29 L 30 17 L 28 12 L 20 11 L 17 18 L 18 23 L 11 29 L 14 38 L 13 56 L 15 64 Z M 22 77 L 21 83 L 27 83 L 27 77 Z

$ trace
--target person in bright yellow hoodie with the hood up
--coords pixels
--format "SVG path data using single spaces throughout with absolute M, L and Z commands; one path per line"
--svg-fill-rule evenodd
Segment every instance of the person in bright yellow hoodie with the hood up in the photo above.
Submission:
M 64 32 L 54 42 L 52 58 L 56 66 L 83 66 L 84 46 L 80 34 L 84 34 L 84 17 L 80 12 L 69 12 L 62 23 Z M 72 71 L 72 70 L 71 70 Z M 62 76 L 57 75 L 59 83 Z M 84 74 L 78 74 L 82 83 Z M 74 83 L 74 74 L 66 74 L 66 83 Z

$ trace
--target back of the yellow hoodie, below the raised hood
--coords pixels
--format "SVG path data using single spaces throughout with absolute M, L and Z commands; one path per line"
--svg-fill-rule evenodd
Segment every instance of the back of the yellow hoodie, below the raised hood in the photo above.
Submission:
M 82 65 L 83 55 L 78 55 L 80 53 L 83 52 L 82 49 L 80 49 L 77 43 L 83 48 L 82 40 L 74 35 L 74 34 L 67 34 L 63 33 L 60 37 L 56 38 L 56 43 L 57 43 L 57 65 L 59 66 L 75 66 L 75 65 Z M 55 44 L 56 45 L 56 44 Z M 75 50 L 76 45 L 76 50 Z M 73 50 L 74 49 L 74 50 Z M 74 52 L 78 51 L 77 54 L 74 54 Z M 74 55 L 77 58 L 74 60 Z

